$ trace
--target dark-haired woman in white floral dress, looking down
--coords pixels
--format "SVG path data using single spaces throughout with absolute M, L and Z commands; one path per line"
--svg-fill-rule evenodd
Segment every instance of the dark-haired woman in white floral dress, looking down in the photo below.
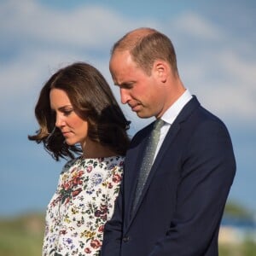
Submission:
M 99 255 L 119 193 L 129 122 L 102 74 L 83 62 L 46 82 L 35 114 L 39 130 L 28 138 L 44 143 L 55 160 L 70 159 L 47 208 L 43 255 Z

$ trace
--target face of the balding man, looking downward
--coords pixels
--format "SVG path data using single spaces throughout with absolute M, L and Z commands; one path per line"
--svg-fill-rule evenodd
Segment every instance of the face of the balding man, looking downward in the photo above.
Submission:
M 115 51 L 109 68 L 114 84 L 119 86 L 123 104 L 128 104 L 140 118 L 159 116 L 164 104 L 164 94 L 154 67 L 148 75 L 137 67 L 128 51 Z

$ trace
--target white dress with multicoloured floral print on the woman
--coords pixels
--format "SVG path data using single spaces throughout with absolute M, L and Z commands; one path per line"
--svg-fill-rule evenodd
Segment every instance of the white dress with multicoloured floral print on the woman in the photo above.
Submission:
M 100 255 L 119 194 L 124 157 L 70 160 L 46 212 L 43 255 Z

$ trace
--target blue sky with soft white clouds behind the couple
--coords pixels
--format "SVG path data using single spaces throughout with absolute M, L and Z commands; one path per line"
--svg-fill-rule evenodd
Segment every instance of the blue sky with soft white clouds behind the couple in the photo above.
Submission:
M 256 2 L 0 0 L 0 215 L 44 211 L 61 166 L 29 142 L 33 109 L 58 68 L 88 61 L 114 88 L 109 50 L 125 32 L 152 26 L 177 51 L 183 84 L 224 120 L 237 161 L 230 201 L 256 213 Z M 131 135 L 152 119 L 131 119 Z

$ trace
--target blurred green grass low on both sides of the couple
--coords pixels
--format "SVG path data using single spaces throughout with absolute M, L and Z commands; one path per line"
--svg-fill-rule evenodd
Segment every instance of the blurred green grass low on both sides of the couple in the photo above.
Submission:
M 0 218 L 0 256 L 40 256 L 44 237 L 44 214 Z M 254 256 L 256 243 L 220 244 L 219 256 Z

